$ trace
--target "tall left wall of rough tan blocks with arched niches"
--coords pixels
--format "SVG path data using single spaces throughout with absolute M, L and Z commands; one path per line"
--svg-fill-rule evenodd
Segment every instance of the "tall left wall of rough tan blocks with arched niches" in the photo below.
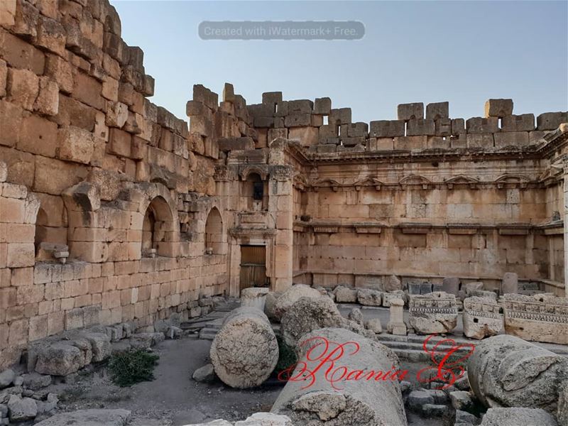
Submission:
M 0 368 L 29 341 L 227 292 L 217 144 L 153 90 L 107 0 L 0 2 Z

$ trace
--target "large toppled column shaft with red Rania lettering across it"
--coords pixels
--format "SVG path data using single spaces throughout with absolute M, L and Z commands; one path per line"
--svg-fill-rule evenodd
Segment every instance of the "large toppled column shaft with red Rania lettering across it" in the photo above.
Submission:
M 298 347 L 297 367 L 271 413 L 294 425 L 407 425 L 391 349 L 338 328 L 310 332 Z

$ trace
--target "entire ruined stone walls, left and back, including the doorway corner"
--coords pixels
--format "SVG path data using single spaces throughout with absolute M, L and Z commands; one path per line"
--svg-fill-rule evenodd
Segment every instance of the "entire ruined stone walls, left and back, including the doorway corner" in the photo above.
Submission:
M 403 104 L 367 125 L 329 98 L 247 106 L 196 85 L 188 128 L 146 99 L 107 0 L 0 8 L 0 364 L 64 329 L 239 295 L 241 244 L 266 246 L 273 290 L 513 271 L 564 293 L 567 113 Z

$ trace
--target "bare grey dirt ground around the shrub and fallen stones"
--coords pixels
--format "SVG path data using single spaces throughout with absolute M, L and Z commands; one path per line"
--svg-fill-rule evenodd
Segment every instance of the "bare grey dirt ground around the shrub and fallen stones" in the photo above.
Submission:
M 60 395 L 61 411 L 84 408 L 125 408 L 132 412 L 134 426 L 180 426 L 218 418 L 244 420 L 258 411 L 269 411 L 283 384 L 269 381 L 251 390 L 237 390 L 215 383 L 197 383 L 191 376 L 207 363 L 208 340 L 194 336 L 166 340 L 154 348 L 160 355 L 155 380 L 119 388 L 111 383 L 107 368 L 94 368 L 77 376 L 75 383 L 50 386 Z M 420 365 L 405 365 L 409 378 Z M 409 425 L 441 426 L 439 420 L 424 420 L 408 413 Z

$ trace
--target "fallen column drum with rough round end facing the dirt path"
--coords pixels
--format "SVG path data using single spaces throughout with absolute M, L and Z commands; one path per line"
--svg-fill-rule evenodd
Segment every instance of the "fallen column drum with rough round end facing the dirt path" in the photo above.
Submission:
M 231 311 L 209 356 L 217 376 L 231 388 L 261 385 L 278 362 L 278 342 L 268 317 L 255 307 Z

